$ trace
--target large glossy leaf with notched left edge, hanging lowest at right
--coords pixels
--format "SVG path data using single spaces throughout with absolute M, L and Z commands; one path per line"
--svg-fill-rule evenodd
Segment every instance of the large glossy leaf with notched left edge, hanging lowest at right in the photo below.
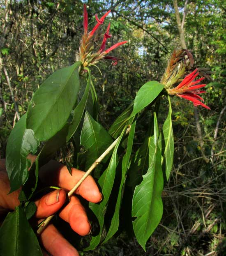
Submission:
M 139 244 L 145 250 L 145 244 L 158 226 L 163 205 L 161 192 L 163 190 L 163 174 L 161 169 L 161 154 L 158 147 L 158 124 L 154 113 L 154 135 L 149 146 L 149 168 L 140 185 L 136 186 L 133 196 L 132 216 L 134 233 Z

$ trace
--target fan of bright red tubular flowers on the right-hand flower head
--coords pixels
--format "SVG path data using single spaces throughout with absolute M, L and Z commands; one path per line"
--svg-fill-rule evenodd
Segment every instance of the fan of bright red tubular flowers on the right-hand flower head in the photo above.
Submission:
M 184 80 L 175 88 L 167 89 L 169 95 L 177 95 L 181 98 L 187 99 L 192 101 L 194 106 L 201 105 L 204 108 L 210 109 L 206 106 L 203 102 L 202 97 L 199 96 L 201 93 L 205 93 L 205 91 L 198 90 L 199 88 L 205 87 L 206 84 L 198 84 L 201 82 L 204 77 L 199 78 L 198 80 L 194 81 L 196 76 L 198 76 L 198 69 L 195 69 L 191 74 L 185 76 Z

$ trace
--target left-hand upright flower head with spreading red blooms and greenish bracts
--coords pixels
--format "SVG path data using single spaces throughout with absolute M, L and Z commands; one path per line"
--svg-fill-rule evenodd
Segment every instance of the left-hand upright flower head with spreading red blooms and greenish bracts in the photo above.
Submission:
M 104 38 L 102 40 L 99 50 L 96 53 L 92 53 L 92 50 L 95 47 L 95 42 L 97 40 L 97 38 L 95 38 L 94 36 L 95 32 L 97 32 L 97 29 L 99 28 L 99 26 L 104 23 L 104 19 L 106 18 L 106 16 L 108 16 L 111 10 L 106 12 L 106 14 L 104 14 L 100 19 L 97 17 L 97 14 L 95 15 L 97 24 L 90 32 L 88 32 L 88 13 L 87 13 L 85 4 L 84 4 L 83 10 L 84 10 L 84 13 L 83 13 L 84 34 L 83 34 L 83 38 L 81 40 L 81 46 L 80 46 L 80 60 L 83 66 L 86 67 L 89 65 L 95 65 L 102 58 L 113 60 L 114 61 L 113 65 L 116 65 L 119 58 L 108 56 L 107 54 L 111 52 L 113 49 L 117 48 L 118 46 L 127 43 L 127 41 L 114 44 L 113 46 L 105 50 L 107 39 L 111 37 L 111 35 L 109 35 L 110 26 L 111 26 L 110 23 L 108 24 L 106 33 L 104 34 Z

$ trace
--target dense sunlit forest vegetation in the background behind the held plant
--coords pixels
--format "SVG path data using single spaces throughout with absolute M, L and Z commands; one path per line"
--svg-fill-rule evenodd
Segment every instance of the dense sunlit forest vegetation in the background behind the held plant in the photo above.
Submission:
M 210 71 L 204 98 L 211 111 L 172 99 L 174 165 L 163 192 L 163 219 L 148 242 L 147 252 L 125 223 L 118 238 L 84 255 L 224 255 L 224 1 L 105 0 L 88 1 L 87 7 L 93 21 L 95 13 L 111 9 L 110 45 L 128 40 L 114 52 L 121 58 L 118 65 L 101 62 L 102 76 L 92 69 L 96 72 L 93 82 L 99 95 L 99 122 L 104 127 L 109 128 L 129 106 L 143 83 L 160 81 L 168 58 L 180 45 L 191 51 L 196 65 Z M 5 0 L 0 8 L 0 157 L 4 158 L 9 133 L 27 111 L 32 93 L 53 71 L 78 58 L 83 2 Z M 164 106 L 159 113 L 164 120 Z M 141 120 L 135 138 L 144 137 L 146 122 Z

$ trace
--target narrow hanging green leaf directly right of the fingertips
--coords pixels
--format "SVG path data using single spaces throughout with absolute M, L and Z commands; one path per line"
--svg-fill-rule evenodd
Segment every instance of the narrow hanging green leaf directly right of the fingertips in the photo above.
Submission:
M 97 236 L 92 237 L 90 245 L 89 245 L 89 247 L 85 248 L 85 251 L 95 249 L 95 247 L 97 247 L 97 245 L 99 244 L 100 239 L 101 239 L 101 233 L 102 233 L 102 229 L 104 226 L 104 215 L 106 213 L 106 208 L 107 208 L 106 206 L 107 206 L 110 194 L 111 194 L 111 189 L 114 184 L 115 169 L 118 164 L 117 150 L 118 150 L 118 146 L 120 145 L 120 142 L 122 140 L 122 136 L 124 135 L 125 129 L 126 129 L 126 127 L 122 131 L 122 133 L 119 137 L 119 140 L 118 140 L 117 144 L 115 145 L 108 168 L 104 171 L 104 173 L 101 175 L 101 177 L 98 180 L 98 184 L 101 187 L 101 192 L 103 194 L 103 200 L 99 204 L 89 203 L 90 209 L 94 212 L 94 214 L 96 215 L 96 217 L 99 221 L 100 231 Z

